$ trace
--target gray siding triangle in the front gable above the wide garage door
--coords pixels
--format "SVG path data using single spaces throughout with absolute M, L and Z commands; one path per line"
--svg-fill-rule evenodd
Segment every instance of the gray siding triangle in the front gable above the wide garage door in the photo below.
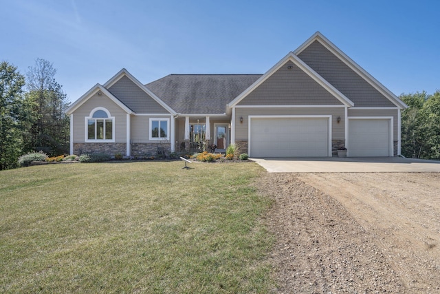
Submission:
M 289 70 L 287 67 L 292 66 Z M 340 105 L 330 94 L 292 61 L 287 61 L 238 105 Z

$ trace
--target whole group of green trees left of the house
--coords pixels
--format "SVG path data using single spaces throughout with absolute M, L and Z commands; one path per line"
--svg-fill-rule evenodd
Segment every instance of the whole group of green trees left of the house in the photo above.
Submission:
M 68 154 L 69 103 L 55 74 L 45 59 L 36 59 L 25 75 L 0 63 L 0 170 L 17 167 L 19 156 L 31 151 Z

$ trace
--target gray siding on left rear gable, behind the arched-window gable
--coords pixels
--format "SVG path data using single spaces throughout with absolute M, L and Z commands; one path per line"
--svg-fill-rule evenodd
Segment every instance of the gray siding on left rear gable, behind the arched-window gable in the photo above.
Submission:
M 146 94 L 129 78 L 123 76 L 114 85 L 109 87 L 109 92 L 118 98 L 124 105 L 137 114 L 166 114 L 168 111 Z

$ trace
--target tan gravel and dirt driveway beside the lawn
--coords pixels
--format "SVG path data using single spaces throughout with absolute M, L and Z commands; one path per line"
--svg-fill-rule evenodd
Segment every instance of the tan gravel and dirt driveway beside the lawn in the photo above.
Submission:
M 276 293 L 440 293 L 440 174 L 265 174 Z

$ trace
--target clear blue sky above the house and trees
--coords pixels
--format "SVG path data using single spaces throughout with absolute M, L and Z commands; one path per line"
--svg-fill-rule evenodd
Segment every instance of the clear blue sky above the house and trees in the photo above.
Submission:
M 320 31 L 396 95 L 440 90 L 440 1 L 0 0 L 0 60 L 57 70 L 69 101 L 122 67 L 263 74 Z

